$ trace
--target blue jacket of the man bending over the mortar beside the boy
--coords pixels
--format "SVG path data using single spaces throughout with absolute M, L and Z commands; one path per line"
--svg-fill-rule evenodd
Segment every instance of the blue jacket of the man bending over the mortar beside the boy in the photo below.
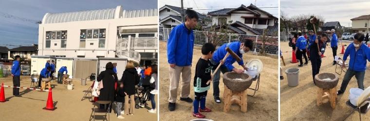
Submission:
M 243 55 L 240 54 L 239 50 L 240 50 L 240 42 L 239 41 L 235 41 L 235 42 L 230 42 L 230 43 L 225 43 L 223 44 L 221 47 L 219 47 L 214 53 L 213 53 L 213 57 L 212 57 L 212 60 L 214 62 L 217 62 L 219 63 L 223 57 L 225 57 L 227 51 L 225 50 L 226 47 L 229 47 L 235 54 L 237 54 L 240 59 L 243 58 Z M 226 68 L 231 71 L 234 69 L 234 66 L 232 65 L 235 61 L 237 61 L 236 59 L 234 59 L 231 55 L 229 57 L 226 58 L 225 62 L 223 63 L 224 66 L 226 66 Z M 241 60 L 240 62 L 238 62 L 239 65 L 243 65 L 244 62 L 243 60 Z

